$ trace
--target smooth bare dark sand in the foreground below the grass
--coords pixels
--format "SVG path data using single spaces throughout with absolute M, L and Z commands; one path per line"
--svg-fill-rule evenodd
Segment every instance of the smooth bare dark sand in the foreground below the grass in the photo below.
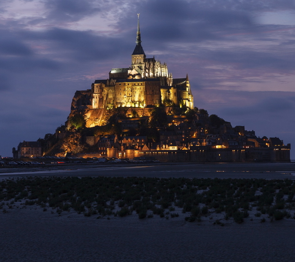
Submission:
M 0 214 L 0 261 L 293 261 L 295 221 L 243 224 L 111 219 L 14 209 Z

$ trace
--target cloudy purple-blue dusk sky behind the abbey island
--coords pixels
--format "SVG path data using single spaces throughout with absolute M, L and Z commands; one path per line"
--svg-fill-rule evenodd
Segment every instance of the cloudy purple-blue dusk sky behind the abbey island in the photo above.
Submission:
M 137 13 L 147 57 L 188 74 L 194 106 L 295 159 L 293 0 L 1 0 L 0 155 L 54 133 L 76 90 L 129 67 Z

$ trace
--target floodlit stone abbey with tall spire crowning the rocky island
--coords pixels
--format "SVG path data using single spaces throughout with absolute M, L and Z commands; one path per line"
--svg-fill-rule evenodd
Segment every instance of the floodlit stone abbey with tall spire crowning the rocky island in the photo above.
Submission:
M 73 110 L 103 109 L 109 106 L 154 107 L 167 102 L 178 106 L 194 107 L 188 76 L 173 79 L 167 64 L 155 57 L 146 58 L 141 46 L 139 15 L 136 46 L 129 68 L 112 68 L 108 79 L 95 80 L 91 89 L 77 91 Z

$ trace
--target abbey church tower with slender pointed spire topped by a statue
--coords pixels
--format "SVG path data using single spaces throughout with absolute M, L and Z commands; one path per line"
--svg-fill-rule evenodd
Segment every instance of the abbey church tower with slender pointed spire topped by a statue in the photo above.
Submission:
M 144 60 L 146 58 L 144 49 L 141 46 L 141 39 L 140 39 L 140 30 L 139 30 L 139 13 L 137 14 L 138 16 L 138 21 L 137 21 L 137 36 L 136 36 L 136 46 L 134 48 L 134 51 L 131 55 L 131 60 L 132 60 L 132 66 L 131 69 L 135 69 L 138 71 L 140 69 L 141 72 L 138 72 L 143 75 L 143 70 L 144 70 Z

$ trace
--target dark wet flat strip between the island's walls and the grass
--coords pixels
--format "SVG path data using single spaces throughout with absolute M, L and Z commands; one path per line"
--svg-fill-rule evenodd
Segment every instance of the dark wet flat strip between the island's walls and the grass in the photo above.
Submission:
M 161 163 L 45 165 L 35 168 L 0 168 L 0 179 L 22 176 L 137 176 L 187 178 L 265 178 L 294 179 L 295 163 Z

